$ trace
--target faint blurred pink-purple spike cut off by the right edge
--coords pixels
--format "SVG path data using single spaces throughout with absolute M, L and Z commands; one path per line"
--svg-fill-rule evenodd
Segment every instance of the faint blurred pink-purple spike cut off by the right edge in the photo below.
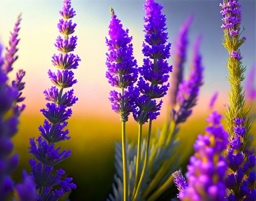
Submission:
M 252 101 L 256 97 L 256 87 L 255 87 L 255 63 L 251 66 L 248 74 L 247 81 L 245 83 L 245 98 Z

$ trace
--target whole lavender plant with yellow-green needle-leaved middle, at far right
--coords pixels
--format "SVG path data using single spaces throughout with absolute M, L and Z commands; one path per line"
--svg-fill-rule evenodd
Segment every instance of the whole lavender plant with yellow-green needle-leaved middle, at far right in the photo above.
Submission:
M 242 56 L 239 47 L 246 38 L 240 39 L 241 5 L 238 0 L 224 0 L 221 14 L 223 16 L 224 30 L 223 45 L 228 50 L 230 57 L 226 64 L 230 77 L 229 102 L 225 120 L 228 126 L 229 144 L 226 154 L 228 174 L 226 179 L 227 199 L 255 200 L 256 199 L 256 175 L 254 148 L 251 147 L 253 135 L 250 132 L 252 118 L 244 112 L 245 93 L 241 82 L 245 79 L 245 67 L 242 64 Z M 244 30 L 244 28 L 243 28 Z

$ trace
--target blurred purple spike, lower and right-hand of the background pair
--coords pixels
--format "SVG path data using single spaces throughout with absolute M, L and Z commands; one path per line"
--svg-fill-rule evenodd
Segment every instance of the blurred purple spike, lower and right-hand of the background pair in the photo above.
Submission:
M 176 99 L 179 109 L 177 111 L 173 109 L 172 111 L 173 119 L 176 124 L 184 122 L 192 113 L 191 107 L 196 104 L 199 87 L 203 84 L 203 66 L 201 63 L 201 55 L 199 53 L 200 41 L 201 37 L 198 37 L 194 42 L 193 64 L 189 74 L 189 79 L 183 80 L 179 84 Z

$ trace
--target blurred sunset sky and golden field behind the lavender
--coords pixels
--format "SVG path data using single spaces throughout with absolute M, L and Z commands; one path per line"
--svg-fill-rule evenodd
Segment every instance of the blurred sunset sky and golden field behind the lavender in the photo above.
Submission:
M 204 85 L 193 114 L 187 122 L 181 125 L 178 137 L 183 140 L 180 149 L 187 158 L 193 153 L 192 144 L 198 133 L 203 133 L 205 117 L 211 96 L 219 91 L 215 108 L 224 114 L 223 104 L 228 103 L 229 84 L 225 62 L 228 53 L 223 47 L 223 30 L 220 28 L 220 1 L 215 0 L 169 0 L 157 1 L 163 5 L 166 15 L 169 42 L 173 43 L 181 24 L 189 15 L 194 15 L 194 21 L 189 30 L 188 57 L 185 73 L 189 69 L 192 44 L 195 37 L 203 34 L 201 53 L 203 56 Z M 246 27 L 242 33 L 247 38 L 241 46 L 243 63 L 251 67 L 255 62 L 255 0 L 240 0 L 243 8 L 242 26 Z M 121 123 L 119 116 L 111 111 L 108 100 L 109 91 L 113 88 L 105 78 L 105 60 L 107 47 L 105 37 L 108 34 L 110 21 L 109 7 L 113 7 L 124 28 L 129 28 L 129 35 L 133 36 L 134 56 L 139 66 L 142 65 L 143 32 L 143 4 L 144 1 L 75 1 L 72 7 L 77 15 L 72 19 L 77 23 L 75 34 L 78 37 L 75 53 L 82 61 L 78 69 L 74 70 L 78 83 L 74 85 L 75 95 L 79 101 L 72 106 L 73 115 L 69 119 L 68 129 L 71 140 L 60 142 L 63 149 L 71 149 L 71 157 L 57 165 L 63 168 L 68 176 L 72 176 L 77 189 L 71 193 L 71 200 L 105 200 L 112 192 L 114 169 L 114 141 L 121 140 Z M 13 29 L 17 15 L 22 12 L 21 30 L 18 45 L 19 59 L 14 64 L 15 71 L 22 68 L 26 71 L 24 95 L 26 109 L 21 114 L 19 132 L 13 138 L 15 151 L 20 156 L 20 166 L 14 174 L 16 181 L 21 180 L 21 170 L 30 171 L 29 138 L 39 136 L 38 127 L 44 117 L 39 112 L 46 104 L 43 91 L 51 86 L 48 79 L 48 69 L 57 71 L 51 64 L 51 57 L 57 53 L 53 45 L 59 35 L 57 23 L 60 18 L 59 10 L 62 1 L 0 1 L 0 41 L 7 45 L 9 31 Z M 172 50 L 175 46 L 172 46 Z M 168 59 L 173 63 L 173 58 Z M 248 70 L 245 74 L 248 73 Z M 169 96 L 164 98 L 163 109 L 157 120 L 153 121 L 153 133 L 161 128 L 167 118 Z M 251 102 L 253 104 L 253 102 Z M 255 112 L 255 105 L 251 112 Z M 254 131 L 255 125 L 253 127 Z M 147 132 L 144 126 L 143 136 Z M 129 142 L 137 140 L 137 123 L 130 116 L 127 123 L 127 139 Z M 184 149 L 185 147 L 185 149 Z M 184 160 L 184 164 L 186 163 Z M 176 192 L 174 192 L 175 194 Z

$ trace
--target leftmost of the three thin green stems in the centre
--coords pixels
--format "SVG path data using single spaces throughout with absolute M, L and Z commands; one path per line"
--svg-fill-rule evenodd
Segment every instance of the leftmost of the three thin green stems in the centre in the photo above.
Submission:
M 122 154 L 123 154 L 123 200 L 127 201 L 127 163 L 125 148 L 125 122 L 122 121 Z

